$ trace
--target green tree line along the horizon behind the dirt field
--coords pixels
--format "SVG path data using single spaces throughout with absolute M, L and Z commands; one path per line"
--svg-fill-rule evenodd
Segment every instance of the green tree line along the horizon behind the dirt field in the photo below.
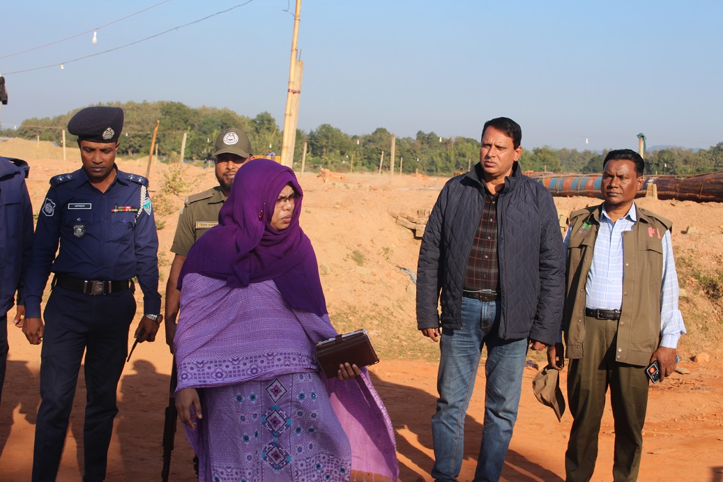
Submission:
M 187 160 L 206 160 L 213 154 L 213 142 L 223 129 L 237 127 L 249 134 L 254 155 L 281 152 L 282 132 L 276 119 L 268 112 L 254 118 L 242 116 L 228 108 L 190 108 L 170 101 L 103 103 L 99 106 L 121 107 L 125 124 L 121 138 L 121 155 L 147 154 L 155 121 L 160 120 L 156 142 L 162 159 L 179 159 L 181 140 L 187 133 L 184 157 Z M 61 143 L 62 129 L 80 108 L 61 116 L 26 119 L 16 129 L 0 130 L 0 136 L 22 137 Z M 375 171 L 384 152 L 384 168 L 389 168 L 392 133 L 380 127 L 371 134 L 346 134 L 330 124 L 316 129 L 296 131 L 294 162 L 301 162 L 304 141 L 307 142 L 306 163 L 309 168 L 328 168 L 332 171 Z M 75 138 L 67 136 L 68 143 Z M 416 137 L 397 137 L 395 164 L 398 171 L 445 175 L 467 171 L 479 160 L 479 139 L 470 137 L 441 137 L 435 132 L 416 133 Z M 526 171 L 551 173 L 599 173 L 608 150 L 578 151 L 554 149 L 549 146 L 523 150 L 521 166 Z M 709 149 L 692 150 L 669 147 L 646 152 L 646 174 L 687 175 L 723 171 L 723 142 Z

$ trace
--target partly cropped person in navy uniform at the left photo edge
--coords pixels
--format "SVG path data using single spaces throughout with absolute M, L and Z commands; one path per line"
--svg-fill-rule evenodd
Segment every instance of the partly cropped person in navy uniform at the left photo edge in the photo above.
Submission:
M 0 398 L 7 368 L 7 312 L 17 291 L 15 326 L 22 324 L 25 272 L 33 249 L 33 206 L 25 178 L 24 160 L 0 158 Z

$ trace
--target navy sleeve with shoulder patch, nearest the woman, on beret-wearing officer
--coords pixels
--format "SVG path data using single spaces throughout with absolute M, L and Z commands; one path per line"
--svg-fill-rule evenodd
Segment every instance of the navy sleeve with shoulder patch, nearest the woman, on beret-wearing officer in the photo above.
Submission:
M 161 293 L 158 293 L 158 231 L 155 228 L 150 198 L 140 207 L 134 230 L 137 278 L 143 291 L 143 314 L 161 313 Z

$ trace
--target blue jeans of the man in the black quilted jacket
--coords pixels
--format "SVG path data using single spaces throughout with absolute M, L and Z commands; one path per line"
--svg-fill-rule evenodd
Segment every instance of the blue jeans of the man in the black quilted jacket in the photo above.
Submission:
M 456 481 L 462 468 L 464 418 L 474 380 L 487 345 L 482 445 L 475 481 L 497 481 L 502 473 L 517 419 L 527 340 L 502 340 L 500 301 L 462 298 L 462 329 L 442 330 L 440 371 L 437 375 L 437 413 L 432 416 L 435 481 Z

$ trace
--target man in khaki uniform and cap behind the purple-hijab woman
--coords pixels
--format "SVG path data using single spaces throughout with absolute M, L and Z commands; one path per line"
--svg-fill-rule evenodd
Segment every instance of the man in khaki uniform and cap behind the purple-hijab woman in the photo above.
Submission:
M 171 252 L 175 253 L 171 263 L 171 272 L 166 283 L 166 343 L 174 351 L 174 335 L 176 335 L 176 317 L 179 314 L 181 292 L 176 289 L 179 273 L 191 245 L 203 233 L 218 224 L 218 211 L 226 201 L 231 184 L 234 183 L 236 170 L 253 159 L 251 142 L 246 132 L 231 127 L 216 136 L 215 152 L 216 179 L 218 186 L 193 194 L 186 198 L 184 208 L 179 215 L 176 226 L 174 244 Z

